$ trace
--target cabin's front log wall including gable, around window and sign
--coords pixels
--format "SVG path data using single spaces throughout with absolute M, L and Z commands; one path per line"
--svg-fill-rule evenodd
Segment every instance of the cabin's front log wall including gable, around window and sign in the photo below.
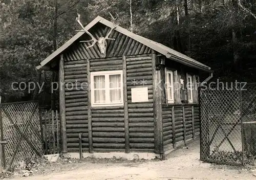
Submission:
M 91 33 L 99 38 L 105 36 L 110 28 L 102 24 L 95 25 L 90 29 Z M 91 42 L 74 43 L 63 54 L 65 58 L 65 82 L 69 83 L 66 90 L 66 116 L 67 116 L 67 138 L 68 151 L 78 152 L 78 135 L 82 134 L 82 150 L 88 151 L 125 151 L 130 144 L 131 151 L 142 150 L 154 151 L 154 118 L 153 118 L 153 82 L 152 82 L 152 58 L 151 49 L 144 44 L 127 37 L 116 30 L 112 32 L 108 41 L 106 58 L 100 57 L 100 51 L 95 45 L 87 49 Z M 79 40 L 90 39 L 84 34 Z M 124 130 L 124 107 L 92 107 L 88 117 L 88 92 L 83 89 L 82 82 L 87 81 L 87 63 L 89 72 L 123 70 L 123 56 L 127 63 L 127 103 L 129 115 L 129 131 Z M 148 103 L 132 103 L 131 84 L 133 79 L 145 81 L 148 87 Z M 78 81 L 78 87 L 71 91 L 71 82 Z M 136 86 L 138 87 L 138 86 Z M 139 86 L 141 87 L 141 86 Z M 126 111 L 127 112 L 127 111 Z M 88 118 L 90 121 L 88 121 Z M 127 118 L 126 118 L 127 119 Z M 89 123 L 89 124 L 88 124 Z M 89 127 L 89 128 L 88 128 Z M 126 124 L 126 127 L 127 124 Z M 90 136 L 91 134 L 91 136 Z M 129 136 L 128 136 L 129 134 Z M 90 138 L 89 138 L 90 137 Z M 129 141 L 127 141 L 127 139 Z M 89 146 L 89 142 L 92 140 Z M 126 147 L 126 149 L 127 149 Z

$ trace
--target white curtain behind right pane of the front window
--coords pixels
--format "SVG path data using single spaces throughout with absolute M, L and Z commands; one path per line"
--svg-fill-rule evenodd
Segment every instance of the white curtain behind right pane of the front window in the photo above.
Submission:
M 121 102 L 121 75 L 110 75 L 110 102 Z

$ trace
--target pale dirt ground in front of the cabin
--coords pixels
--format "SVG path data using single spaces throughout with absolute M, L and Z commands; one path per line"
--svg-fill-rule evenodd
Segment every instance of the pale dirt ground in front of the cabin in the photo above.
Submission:
M 199 161 L 199 142 L 173 151 L 165 161 L 124 160 L 65 160 L 66 164 L 51 163 L 29 177 L 9 179 L 90 179 L 90 180 L 178 180 L 178 179 L 256 179 L 252 167 L 214 165 Z

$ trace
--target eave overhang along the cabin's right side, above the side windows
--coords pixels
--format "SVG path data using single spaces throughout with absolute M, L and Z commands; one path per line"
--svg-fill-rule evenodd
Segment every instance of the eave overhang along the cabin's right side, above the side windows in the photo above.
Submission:
M 173 54 L 170 54 L 170 53 L 167 53 L 166 54 L 166 58 L 168 59 L 172 59 L 176 62 L 180 62 L 184 65 L 187 65 L 191 68 L 196 68 L 198 70 L 201 70 L 201 71 L 205 71 L 205 72 L 210 72 L 210 73 L 213 73 L 214 71 L 212 71 L 209 67 L 206 67 L 206 66 L 201 66 L 199 64 L 195 64 L 195 63 L 191 63 L 190 61 L 186 60 L 186 59 L 183 59 L 183 58 L 180 58 L 176 55 L 173 55 Z

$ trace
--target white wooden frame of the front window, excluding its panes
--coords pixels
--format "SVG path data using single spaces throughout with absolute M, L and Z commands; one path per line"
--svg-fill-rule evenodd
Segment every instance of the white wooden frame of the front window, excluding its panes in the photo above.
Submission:
M 120 103 L 111 103 L 110 102 L 110 76 L 111 75 L 120 75 L 121 82 L 120 82 L 120 89 L 121 89 L 121 102 Z M 95 103 L 94 99 L 94 76 L 105 76 L 105 103 Z M 105 107 L 105 106 L 123 106 L 123 71 L 98 71 L 98 72 L 91 72 L 91 105 L 92 107 Z

